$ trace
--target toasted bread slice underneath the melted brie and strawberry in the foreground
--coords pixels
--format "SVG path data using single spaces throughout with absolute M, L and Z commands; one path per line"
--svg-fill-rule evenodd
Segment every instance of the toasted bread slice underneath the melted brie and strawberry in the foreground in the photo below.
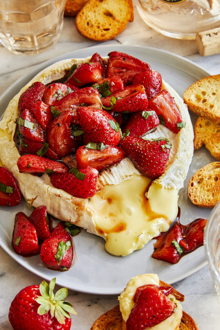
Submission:
M 160 285 L 170 286 L 160 281 Z M 172 294 L 179 301 L 184 301 L 184 295 L 173 288 Z M 119 305 L 102 314 L 92 325 L 90 330 L 126 330 L 126 323 L 122 319 Z M 166 329 L 169 330 L 169 329 Z M 196 322 L 187 313 L 183 312 L 179 327 L 175 330 L 199 330 Z

